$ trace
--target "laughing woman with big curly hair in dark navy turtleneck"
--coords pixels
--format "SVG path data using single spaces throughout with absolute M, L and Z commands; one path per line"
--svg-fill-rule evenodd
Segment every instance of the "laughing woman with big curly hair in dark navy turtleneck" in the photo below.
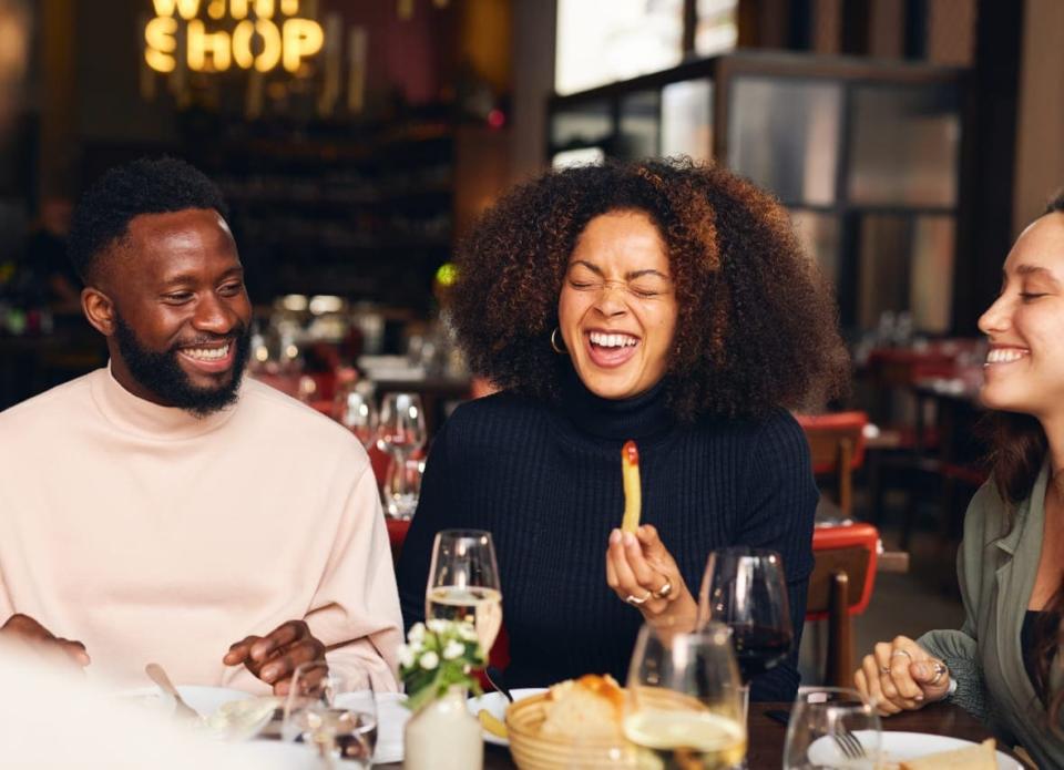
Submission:
M 779 204 L 685 162 L 571 168 L 490 209 L 459 269 L 460 342 L 501 392 L 432 445 L 399 563 L 407 624 L 434 534 L 490 530 L 507 682 L 623 679 L 641 623 L 690 620 L 707 554 L 746 544 L 784 556 L 797 649 L 817 490 L 786 408 L 837 392 L 847 359 Z M 627 439 L 644 525 L 622 535 Z M 791 657 L 753 697 L 797 684 Z

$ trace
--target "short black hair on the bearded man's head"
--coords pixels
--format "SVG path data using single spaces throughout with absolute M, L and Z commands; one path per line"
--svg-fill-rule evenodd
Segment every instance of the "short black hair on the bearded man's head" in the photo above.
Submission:
M 81 196 L 74 209 L 70 260 L 89 284 L 100 255 L 125 237 L 134 217 L 188 208 L 213 208 L 223 217 L 228 214 L 222 191 L 184 161 L 142 157 L 116 166 Z

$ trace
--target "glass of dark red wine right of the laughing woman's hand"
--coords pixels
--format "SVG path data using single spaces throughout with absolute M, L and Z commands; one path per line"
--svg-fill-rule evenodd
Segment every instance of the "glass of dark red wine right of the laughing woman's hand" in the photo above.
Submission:
M 698 593 L 698 625 L 709 620 L 732 629 L 736 663 L 747 688 L 755 677 L 782 661 L 794 635 L 780 555 L 746 546 L 710 553 Z M 748 700 L 749 692 L 745 697 Z

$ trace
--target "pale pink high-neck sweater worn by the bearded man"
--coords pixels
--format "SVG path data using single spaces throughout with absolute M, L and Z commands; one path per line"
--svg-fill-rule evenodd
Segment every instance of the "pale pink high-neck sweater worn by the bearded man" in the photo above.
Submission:
M 85 644 L 93 677 L 268 687 L 222 657 L 306 618 L 395 689 L 402 619 L 377 486 L 339 425 L 252 380 L 197 419 L 101 369 L 0 413 L 0 624 Z

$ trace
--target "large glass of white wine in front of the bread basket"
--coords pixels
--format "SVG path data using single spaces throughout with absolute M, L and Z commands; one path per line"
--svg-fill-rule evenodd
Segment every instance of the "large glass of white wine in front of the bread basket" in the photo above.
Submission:
M 746 757 L 741 684 L 726 626 L 645 625 L 628 669 L 624 736 L 638 767 L 720 770 Z

